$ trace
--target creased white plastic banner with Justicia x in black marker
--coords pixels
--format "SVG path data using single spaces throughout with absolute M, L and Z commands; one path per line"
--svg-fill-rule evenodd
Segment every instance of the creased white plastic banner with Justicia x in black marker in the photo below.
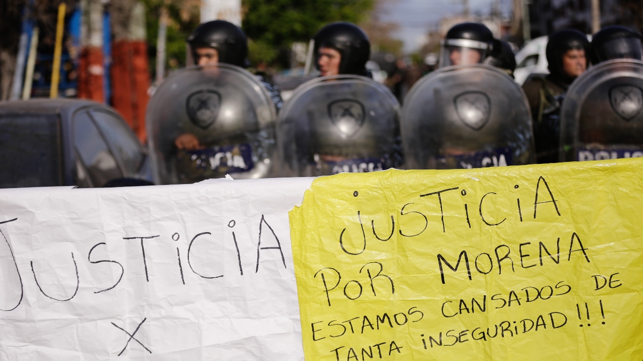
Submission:
M 0 360 L 302 360 L 310 184 L 0 191 Z

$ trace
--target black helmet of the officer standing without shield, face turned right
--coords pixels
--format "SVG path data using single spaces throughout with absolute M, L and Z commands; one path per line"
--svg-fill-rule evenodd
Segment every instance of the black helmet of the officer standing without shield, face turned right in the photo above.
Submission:
M 590 42 L 585 34 L 573 29 L 559 30 L 549 35 L 547 41 L 547 55 L 549 73 L 565 83 L 571 83 L 574 77 L 563 70 L 563 56 L 570 50 L 584 50 L 587 57 L 590 53 Z

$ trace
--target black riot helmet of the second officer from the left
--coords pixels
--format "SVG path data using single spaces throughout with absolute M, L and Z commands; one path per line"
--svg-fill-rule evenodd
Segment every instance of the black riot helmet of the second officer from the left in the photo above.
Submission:
M 340 74 L 366 75 L 366 62 L 370 57 L 370 41 L 366 33 L 350 22 L 331 22 L 317 31 L 314 38 L 314 58 L 319 69 L 320 48 L 333 48 L 340 52 Z

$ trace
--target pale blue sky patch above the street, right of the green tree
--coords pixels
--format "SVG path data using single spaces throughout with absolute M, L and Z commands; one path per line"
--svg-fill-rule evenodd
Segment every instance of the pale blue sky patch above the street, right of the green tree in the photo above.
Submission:
M 471 13 L 487 14 L 492 0 L 469 0 Z M 512 0 L 500 0 L 503 13 L 511 11 Z M 383 8 L 382 20 L 396 22 L 397 39 L 404 41 L 404 51 L 419 47 L 422 37 L 431 27 L 437 26 L 440 18 L 462 13 L 462 0 L 388 0 Z

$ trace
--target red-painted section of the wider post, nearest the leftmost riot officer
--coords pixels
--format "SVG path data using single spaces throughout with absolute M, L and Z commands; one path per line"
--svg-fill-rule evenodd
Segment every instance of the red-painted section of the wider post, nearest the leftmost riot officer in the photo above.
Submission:
M 145 109 L 150 78 L 145 41 L 120 40 L 112 44 L 112 103 L 145 143 Z

